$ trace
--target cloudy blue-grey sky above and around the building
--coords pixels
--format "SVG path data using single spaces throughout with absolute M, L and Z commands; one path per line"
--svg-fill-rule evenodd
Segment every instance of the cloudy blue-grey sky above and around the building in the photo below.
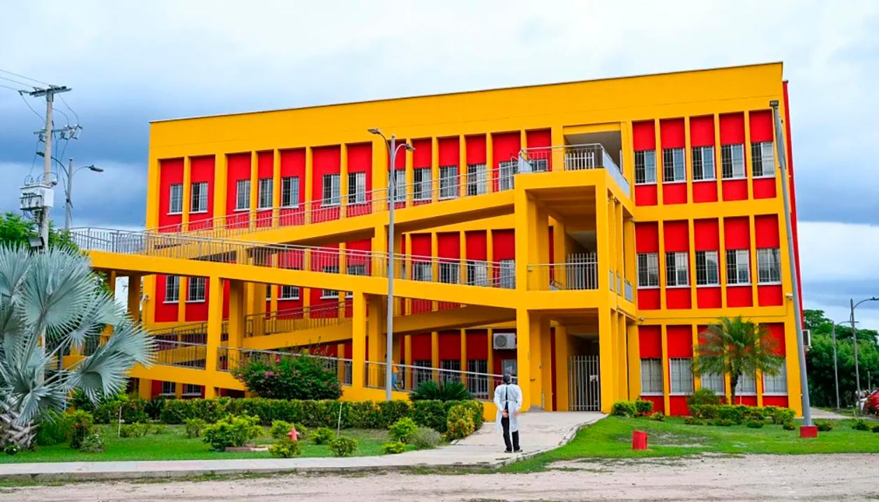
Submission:
M 63 157 L 105 168 L 77 175 L 75 224 L 138 227 L 149 120 L 783 61 L 805 304 L 842 320 L 879 295 L 876 25 L 868 1 L 11 1 L 0 69 L 74 90 L 57 120 L 84 132 Z M 27 101 L 0 87 L 0 210 L 35 163 L 27 105 L 45 104 Z

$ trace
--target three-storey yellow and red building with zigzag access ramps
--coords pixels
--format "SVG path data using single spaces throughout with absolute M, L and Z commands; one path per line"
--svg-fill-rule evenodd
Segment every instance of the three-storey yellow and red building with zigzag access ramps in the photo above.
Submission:
M 161 340 L 133 372 L 144 397 L 243 395 L 241 360 L 308 349 L 343 398 L 383 398 L 392 265 L 399 397 L 454 379 L 488 398 L 512 372 L 526 409 L 643 397 L 686 413 L 694 389 L 729 395 L 728 375 L 690 363 L 701 327 L 740 314 L 786 355 L 781 375 L 742 379 L 741 402 L 799 412 L 769 109 L 788 116 L 781 71 L 156 121 L 148 229 L 75 238 L 96 268 L 142 281 L 129 305 Z M 393 170 L 374 127 L 414 150 Z

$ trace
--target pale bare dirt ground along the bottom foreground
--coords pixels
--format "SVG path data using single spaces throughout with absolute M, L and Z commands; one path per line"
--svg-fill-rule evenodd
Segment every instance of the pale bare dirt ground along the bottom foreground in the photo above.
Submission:
M 749 455 L 564 462 L 534 474 L 276 476 L 0 489 L 0 500 L 429 502 L 879 500 L 879 455 Z

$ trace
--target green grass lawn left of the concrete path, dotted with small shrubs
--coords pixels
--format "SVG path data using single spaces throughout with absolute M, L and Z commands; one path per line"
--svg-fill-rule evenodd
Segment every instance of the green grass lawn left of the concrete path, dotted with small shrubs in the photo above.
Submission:
M 119 438 L 115 426 L 98 426 L 104 436 L 102 453 L 84 453 L 71 449 L 66 443 L 37 447 L 18 455 L 0 452 L 0 463 L 9 462 L 110 462 L 120 460 L 201 460 L 230 458 L 271 458 L 268 452 L 225 453 L 214 452 L 200 438 L 187 438 L 183 426 L 168 426 L 164 433 L 149 433 L 140 438 Z M 359 441 L 354 456 L 381 455 L 381 445 L 389 442 L 388 431 L 348 429 L 342 434 Z M 258 445 L 274 442 L 266 433 L 254 441 Z M 332 456 L 329 447 L 318 446 L 309 440 L 302 443 L 301 456 Z

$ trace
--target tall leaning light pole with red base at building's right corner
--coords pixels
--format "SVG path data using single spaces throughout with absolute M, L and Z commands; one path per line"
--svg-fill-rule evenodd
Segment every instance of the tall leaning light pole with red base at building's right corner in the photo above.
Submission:
M 788 180 L 788 159 L 785 151 L 784 135 L 781 129 L 781 115 L 778 113 L 778 100 L 769 102 L 775 119 L 775 149 L 778 151 L 778 164 L 781 169 L 781 193 L 784 195 L 784 222 L 788 233 L 788 267 L 790 269 L 790 284 L 794 297 L 794 325 L 796 327 L 796 352 L 800 362 L 800 395 L 803 402 L 803 426 L 800 428 L 800 436 L 806 428 L 811 433 L 817 434 L 812 425 L 812 412 L 809 400 L 809 379 L 806 375 L 806 351 L 803 347 L 803 310 L 800 305 L 800 280 L 796 276 L 796 259 L 794 255 L 794 231 L 790 222 L 790 194 Z

